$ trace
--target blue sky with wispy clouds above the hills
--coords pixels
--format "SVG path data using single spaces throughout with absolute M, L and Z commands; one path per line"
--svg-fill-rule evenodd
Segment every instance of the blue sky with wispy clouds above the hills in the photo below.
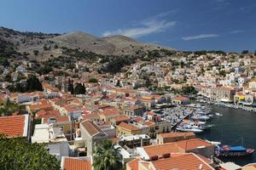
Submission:
M 0 26 L 241 52 L 256 50 L 255 8 L 255 0 L 1 0 Z

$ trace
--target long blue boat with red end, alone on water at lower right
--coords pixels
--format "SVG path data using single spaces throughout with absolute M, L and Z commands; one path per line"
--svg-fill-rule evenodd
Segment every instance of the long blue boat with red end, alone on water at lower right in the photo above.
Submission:
M 223 145 L 222 147 L 217 147 L 216 154 L 217 156 L 224 156 L 224 157 L 239 157 L 239 156 L 252 156 L 253 149 L 246 149 L 241 145 L 238 146 L 229 146 Z

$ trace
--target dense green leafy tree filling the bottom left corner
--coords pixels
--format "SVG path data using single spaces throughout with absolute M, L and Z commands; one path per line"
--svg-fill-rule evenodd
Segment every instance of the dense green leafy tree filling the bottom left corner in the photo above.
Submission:
M 44 144 L 28 144 L 26 138 L 0 135 L 0 148 L 0 169 L 60 169 L 60 162 L 49 155 Z

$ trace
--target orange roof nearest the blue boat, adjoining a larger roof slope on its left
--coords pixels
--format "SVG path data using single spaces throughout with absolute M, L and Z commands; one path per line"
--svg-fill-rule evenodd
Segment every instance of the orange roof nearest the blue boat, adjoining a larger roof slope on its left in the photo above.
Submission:
M 188 140 L 181 140 L 176 142 L 177 146 L 182 148 L 183 150 L 193 150 L 197 147 L 209 147 L 213 146 L 211 143 L 208 143 L 202 139 L 188 139 Z

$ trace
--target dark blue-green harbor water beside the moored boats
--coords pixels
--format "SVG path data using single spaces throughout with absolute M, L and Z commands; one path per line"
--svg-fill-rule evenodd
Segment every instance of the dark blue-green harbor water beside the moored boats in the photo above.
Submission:
M 243 145 L 245 148 L 256 150 L 256 113 L 230 109 L 218 105 L 208 105 L 212 113 L 221 113 L 223 116 L 214 114 L 208 121 L 214 127 L 211 130 L 197 134 L 201 139 L 220 141 L 221 144 Z M 250 162 L 256 162 L 256 153 L 253 156 L 224 158 L 222 161 L 233 161 L 243 166 Z

